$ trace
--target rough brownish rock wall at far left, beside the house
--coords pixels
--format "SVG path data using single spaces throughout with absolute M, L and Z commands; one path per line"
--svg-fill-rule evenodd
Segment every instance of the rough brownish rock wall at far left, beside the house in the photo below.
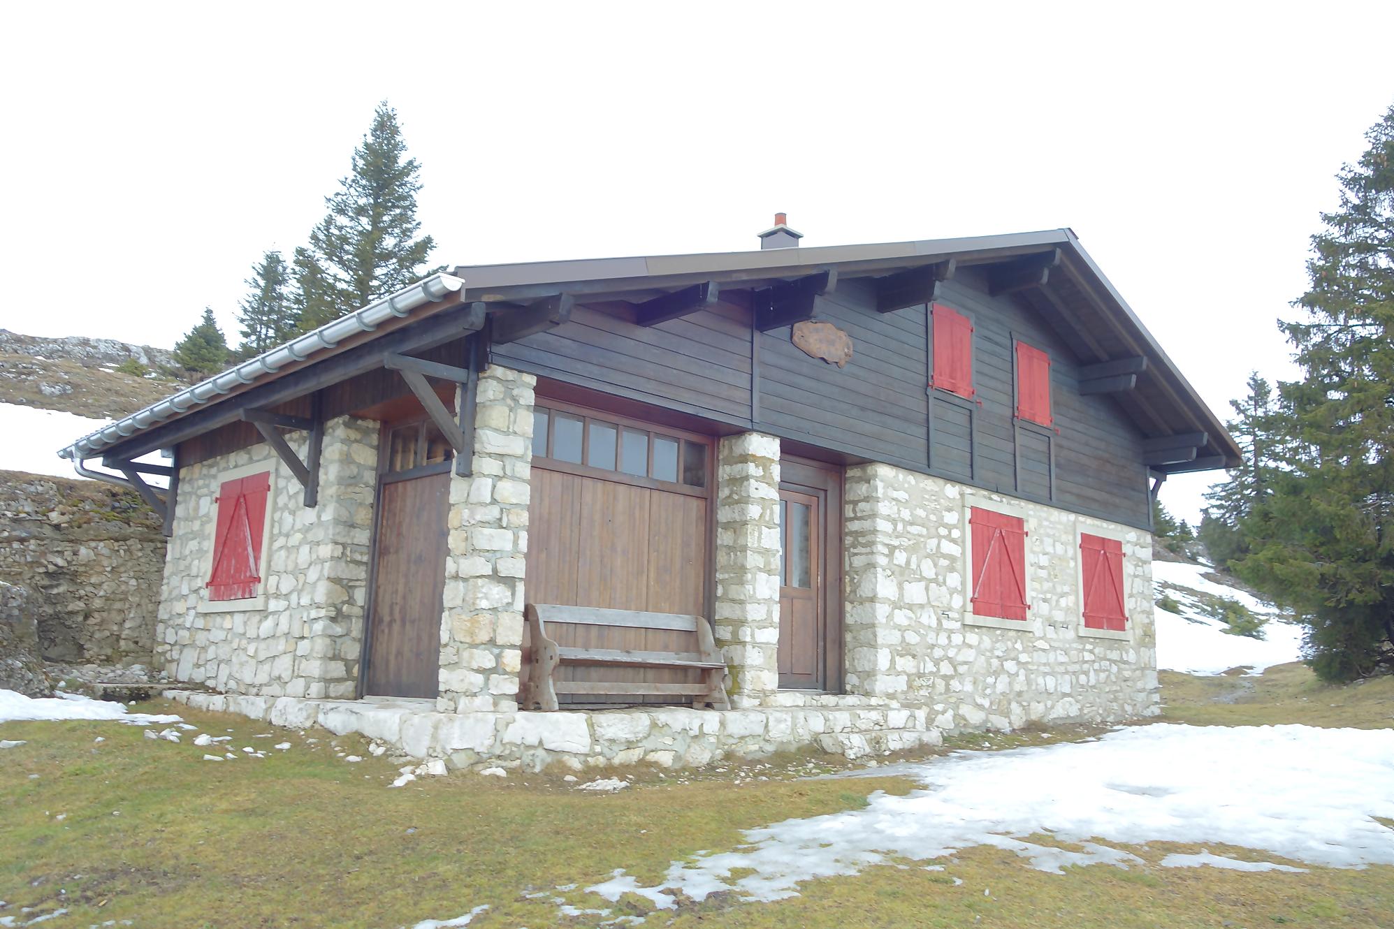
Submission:
M 149 663 L 163 564 L 134 490 L 0 472 L 0 581 L 32 593 L 43 657 Z

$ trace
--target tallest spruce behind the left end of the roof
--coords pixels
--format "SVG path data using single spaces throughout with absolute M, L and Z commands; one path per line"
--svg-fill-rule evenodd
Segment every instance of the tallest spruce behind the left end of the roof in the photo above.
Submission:
M 325 198 L 329 214 L 296 252 L 300 327 L 309 330 L 425 274 L 435 248 L 418 237 L 417 192 L 421 166 L 407 157 L 397 111 L 386 100 L 354 149 L 353 171 L 339 192 Z

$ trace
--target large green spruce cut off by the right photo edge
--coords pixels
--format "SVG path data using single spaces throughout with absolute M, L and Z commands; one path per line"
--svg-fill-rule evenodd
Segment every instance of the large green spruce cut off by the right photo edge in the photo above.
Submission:
M 1312 237 L 1302 380 L 1281 384 L 1285 457 L 1250 517 L 1239 575 L 1309 623 L 1326 680 L 1394 670 L 1394 107 Z

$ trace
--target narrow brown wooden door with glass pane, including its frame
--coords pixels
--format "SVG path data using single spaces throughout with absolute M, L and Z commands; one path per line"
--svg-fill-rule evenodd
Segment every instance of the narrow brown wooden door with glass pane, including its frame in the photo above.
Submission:
M 842 687 L 842 472 L 781 461 L 779 687 Z

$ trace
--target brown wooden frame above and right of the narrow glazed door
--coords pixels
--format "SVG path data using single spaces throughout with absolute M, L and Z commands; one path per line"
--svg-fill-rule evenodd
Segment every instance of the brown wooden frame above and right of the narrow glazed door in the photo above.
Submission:
M 842 556 L 842 467 L 811 458 L 782 454 L 779 458 L 779 490 L 818 497 L 822 510 L 822 533 L 818 538 L 820 579 L 822 600 L 822 689 L 841 694 L 846 681 L 846 639 L 843 627 L 843 556 Z

